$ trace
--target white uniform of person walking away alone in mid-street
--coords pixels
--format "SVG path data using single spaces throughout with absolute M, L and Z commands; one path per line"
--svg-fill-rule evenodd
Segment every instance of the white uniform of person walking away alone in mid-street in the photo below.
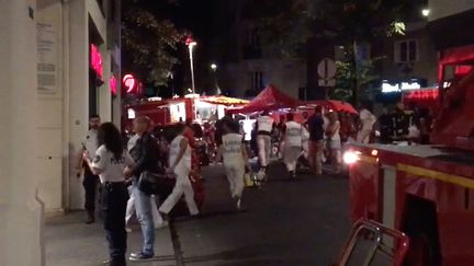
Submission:
M 242 154 L 242 135 L 223 136 L 222 154 L 233 198 L 240 199 L 244 192 L 245 160 Z

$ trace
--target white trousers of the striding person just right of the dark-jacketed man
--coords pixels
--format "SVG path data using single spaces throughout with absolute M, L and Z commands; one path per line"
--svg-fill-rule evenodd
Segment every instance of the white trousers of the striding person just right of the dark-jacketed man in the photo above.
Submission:
M 172 208 L 178 204 L 184 194 L 184 199 L 188 205 L 188 209 L 191 216 L 195 216 L 199 213 L 198 206 L 194 201 L 194 190 L 191 185 L 191 181 L 189 180 L 189 170 L 184 169 L 176 169 L 174 174 L 177 175 L 177 182 L 174 184 L 174 188 L 172 193 L 168 196 L 165 203 L 159 208 L 159 211 L 163 213 L 169 213 Z

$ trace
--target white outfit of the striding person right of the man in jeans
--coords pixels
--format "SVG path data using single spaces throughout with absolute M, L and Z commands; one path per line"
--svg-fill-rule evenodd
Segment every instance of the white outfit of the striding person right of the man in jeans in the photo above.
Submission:
M 181 140 L 183 136 L 178 136 L 173 139 L 170 147 L 170 158 L 169 165 L 173 165 L 178 153 L 181 150 Z M 172 193 L 168 196 L 165 203 L 159 208 L 159 211 L 163 213 L 169 213 L 171 209 L 178 204 L 181 199 L 181 196 L 184 194 L 184 199 L 188 205 L 188 209 L 191 216 L 195 216 L 199 213 L 198 206 L 194 201 L 194 190 L 191 185 L 191 181 L 189 180 L 189 174 L 191 171 L 191 147 L 188 144 L 181 161 L 174 167 L 174 174 L 177 175 L 177 182 Z

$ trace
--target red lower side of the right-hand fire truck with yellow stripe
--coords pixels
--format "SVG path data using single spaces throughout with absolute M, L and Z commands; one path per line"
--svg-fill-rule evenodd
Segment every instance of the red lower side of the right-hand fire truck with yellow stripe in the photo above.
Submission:
M 427 227 L 435 227 L 442 265 L 474 265 L 474 166 L 433 159 L 441 154 L 436 148 L 407 147 L 403 153 L 384 148 L 353 147 L 361 155 L 350 166 L 352 220 L 371 218 L 390 227 L 393 221 L 404 231 L 413 200 L 429 203 L 436 221 Z M 374 149 L 377 155 L 369 155 Z

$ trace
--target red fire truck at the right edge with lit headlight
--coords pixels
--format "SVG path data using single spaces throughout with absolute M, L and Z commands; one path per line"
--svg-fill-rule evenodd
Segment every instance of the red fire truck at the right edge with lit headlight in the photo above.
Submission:
M 405 232 L 405 265 L 474 265 L 474 46 L 440 53 L 430 146 L 352 144 L 350 216 Z

